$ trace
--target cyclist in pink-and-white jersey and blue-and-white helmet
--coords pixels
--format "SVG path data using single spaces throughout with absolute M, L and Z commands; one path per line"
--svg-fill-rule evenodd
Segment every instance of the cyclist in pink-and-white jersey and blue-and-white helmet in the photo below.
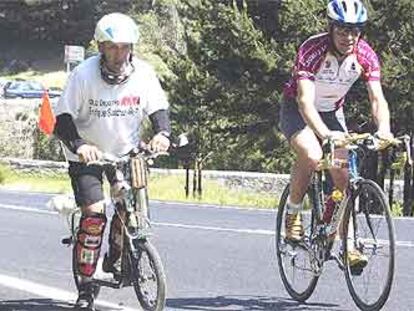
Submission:
M 303 237 L 302 200 L 322 157 L 319 142 L 345 137 L 347 128 L 342 106 L 359 77 L 366 82 L 377 135 L 392 137 L 378 57 L 361 38 L 367 22 L 364 4 L 360 0 L 331 0 L 327 15 L 328 32 L 312 36 L 300 46 L 281 107 L 281 130 L 297 155 L 285 223 L 286 236 L 292 242 Z M 345 157 L 344 153 L 338 151 L 337 157 Z M 346 189 L 346 169 L 333 169 L 331 176 L 336 188 Z M 356 250 L 351 250 L 348 256 L 351 265 L 364 267 L 367 263 L 367 258 Z

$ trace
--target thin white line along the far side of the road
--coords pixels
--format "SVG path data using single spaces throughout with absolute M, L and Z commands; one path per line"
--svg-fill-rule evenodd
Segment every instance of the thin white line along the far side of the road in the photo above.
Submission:
M 40 209 L 36 209 L 36 208 L 23 207 L 23 206 L 19 206 L 19 205 L 0 204 L 0 208 L 23 211 L 23 212 L 58 215 L 58 213 L 55 212 L 55 211 L 40 210 Z M 174 228 L 180 228 L 180 229 L 206 230 L 206 231 L 216 231 L 216 232 L 232 232 L 232 233 L 243 233 L 243 234 L 257 234 L 257 235 L 266 235 L 266 236 L 274 235 L 274 231 L 264 230 L 264 229 L 223 228 L 223 227 L 213 227 L 213 226 L 176 224 L 176 223 L 168 223 L 168 222 L 152 222 L 152 224 L 154 226 L 174 227 Z M 400 247 L 409 247 L 409 248 L 414 247 L 414 241 L 396 241 L 395 244 L 396 244 L 396 246 L 400 246 Z

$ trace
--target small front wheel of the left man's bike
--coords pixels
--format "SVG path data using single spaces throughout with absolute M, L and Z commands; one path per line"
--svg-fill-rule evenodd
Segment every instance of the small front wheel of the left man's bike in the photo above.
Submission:
M 144 310 L 161 311 L 165 307 L 167 292 L 167 281 L 161 257 L 150 241 L 136 239 L 133 243 L 137 252 L 130 252 L 131 278 L 137 299 Z M 141 266 L 144 260 L 148 260 L 151 271 L 149 276 L 144 275 L 145 272 Z M 149 279 L 155 281 L 156 286 L 156 294 L 152 298 L 148 297 L 150 293 L 143 284 Z

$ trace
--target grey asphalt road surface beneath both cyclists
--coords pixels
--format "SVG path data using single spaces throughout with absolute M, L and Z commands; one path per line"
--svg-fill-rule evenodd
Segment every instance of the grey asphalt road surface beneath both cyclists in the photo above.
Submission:
M 0 190 L 0 310 L 71 310 L 71 251 L 51 195 Z M 167 310 L 356 310 L 328 263 L 307 304 L 291 300 L 274 255 L 275 211 L 152 202 L 153 243 L 168 278 Z M 414 221 L 395 219 L 397 264 L 384 310 L 414 310 Z M 140 310 L 132 288 L 104 288 L 99 310 Z

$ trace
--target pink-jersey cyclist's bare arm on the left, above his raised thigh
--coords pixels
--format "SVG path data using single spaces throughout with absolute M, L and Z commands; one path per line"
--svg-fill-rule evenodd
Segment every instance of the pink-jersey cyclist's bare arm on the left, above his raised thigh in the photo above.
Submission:
M 315 107 L 315 83 L 308 79 L 298 80 L 298 108 L 306 124 L 317 136 L 324 139 L 330 135 L 330 130 L 322 121 Z

